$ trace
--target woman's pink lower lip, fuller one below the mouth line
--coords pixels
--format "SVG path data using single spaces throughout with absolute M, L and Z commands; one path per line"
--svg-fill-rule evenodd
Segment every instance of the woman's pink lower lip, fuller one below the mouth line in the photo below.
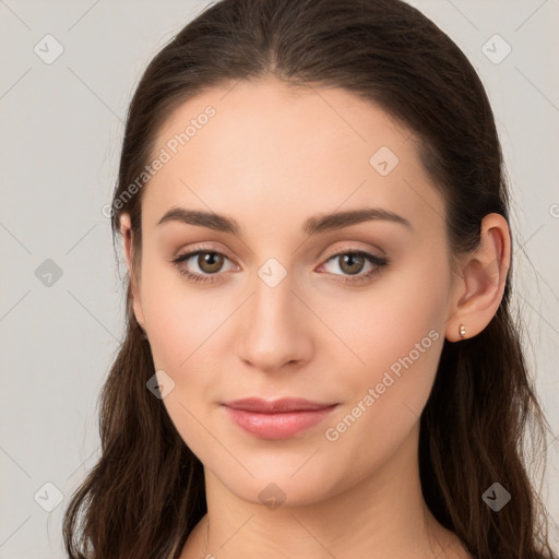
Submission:
M 288 439 L 322 421 L 337 404 L 321 409 L 259 414 L 224 406 L 229 418 L 261 439 Z

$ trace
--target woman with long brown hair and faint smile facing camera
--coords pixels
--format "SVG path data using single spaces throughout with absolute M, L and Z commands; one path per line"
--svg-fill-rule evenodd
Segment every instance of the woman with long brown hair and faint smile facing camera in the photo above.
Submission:
M 71 558 L 551 557 L 495 121 L 416 9 L 207 8 L 136 88 L 110 215 L 127 335 Z

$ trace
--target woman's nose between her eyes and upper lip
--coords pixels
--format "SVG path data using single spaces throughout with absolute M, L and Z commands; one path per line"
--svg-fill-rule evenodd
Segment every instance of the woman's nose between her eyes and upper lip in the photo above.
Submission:
M 239 358 L 265 372 L 300 367 L 313 352 L 312 314 L 289 274 L 275 287 L 259 277 L 254 290 L 240 318 Z

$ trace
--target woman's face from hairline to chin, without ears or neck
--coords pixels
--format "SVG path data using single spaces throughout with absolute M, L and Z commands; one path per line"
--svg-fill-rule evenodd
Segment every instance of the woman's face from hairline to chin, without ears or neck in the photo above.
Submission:
M 206 471 L 245 500 L 301 504 L 379 479 L 403 449 L 415 460 L 453 282 L 414 136 L 346 91 L 269 79 L 185 103 L 151 163 L 134 311 Z M 159 223 L 171 209 L 224 218 Z M 400 217 L 325 218 L 371 209 Z M 337 405 L 251 432 L 223 405 L 251 396 Z

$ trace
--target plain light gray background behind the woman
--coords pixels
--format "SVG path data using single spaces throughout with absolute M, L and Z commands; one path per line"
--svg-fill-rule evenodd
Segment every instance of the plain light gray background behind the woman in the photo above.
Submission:
M 550 424 L 544 498 L 559 546 L 559 0 L 411 3 L 464 50 L 493 105 L 526 357 Z M 62 510 L 98 456 L 96 402 L 122 333 L 124 266 L 102 207 L 123 117 L 146 63 L 206 4 L 0 0 L 0 559 L 63 555 Z M 47 34 L 63 48 L 50 64 Z

